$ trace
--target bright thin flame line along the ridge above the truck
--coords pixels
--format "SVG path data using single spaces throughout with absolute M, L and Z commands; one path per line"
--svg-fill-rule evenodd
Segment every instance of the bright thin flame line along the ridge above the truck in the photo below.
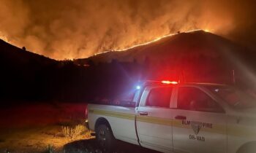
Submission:
M 186 32 L 184 32 L 184 33 L 191 33 L 191 32 L 195 32 L 195 31 L 211 32 L 210 29 L 206 28 L 206 29 L 195 29 L 195 30 L 191 30 L 191 31 L 186 31 Z M 150 41 L 150 42 L 145 42 L 145 43 L 143 43 L 143 44 L 135 44 L 135 45 L 132 46 L 132 47 L 128 47 L 128 48 L 121 49 L 121 50 L 110 50 L 110 51 L 105 51 L 105 52 L 99 52 L 99 53 L 94 54 L 94 55 L 100 55 L 100 54 L 103 54 L 103 53 L 106 53 L 106 52 L 112 52 L 112 51 L 126 51 L 126 50 L 130 50 L 130 49 L 132 49 L 132 48 L 135 48 L 135 47 L 140 47 L 140 46 L 144 46 L 144 45 L 146 45 L 146 44 L 151 44 L 151 43 L 153 43 L 153 42 L 157 42 L 157 41 L 159 41 L 159 40 L 161 40 L 161 39 L 164 39 L 164 38 L 166 38 L 166 37 L 168 37 L 168 36 L 174 36 L 174 35 L 177 35 L 177 34 L 167 34 L 167 35 L 164 35 L 164 36 L 160 36 L 160 37 L 158 37 L 158 38 L 156 38 L 156 39 L 154 39 L 154 40 L 152 40 L 152 41 Z

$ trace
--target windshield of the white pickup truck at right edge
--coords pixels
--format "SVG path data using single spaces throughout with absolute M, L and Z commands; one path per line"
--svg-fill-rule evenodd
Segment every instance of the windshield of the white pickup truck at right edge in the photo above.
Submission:
M 255 95 L 238 90 L 234 87 L 208 86 L 207 88 L 236 109 L 249 109 L 256 106 Z

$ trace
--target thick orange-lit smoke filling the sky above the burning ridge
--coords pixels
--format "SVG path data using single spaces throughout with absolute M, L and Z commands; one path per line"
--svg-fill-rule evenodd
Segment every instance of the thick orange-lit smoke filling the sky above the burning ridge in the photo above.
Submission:
M 254 47 L 254 10 L 248 0 L 1 0 L 0 38 L 55 59 L 198 28 Z

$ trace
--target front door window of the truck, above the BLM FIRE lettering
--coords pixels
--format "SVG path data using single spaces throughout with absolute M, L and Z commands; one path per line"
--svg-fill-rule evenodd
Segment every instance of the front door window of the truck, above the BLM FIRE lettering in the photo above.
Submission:
M 222 108 L 202 90 L 195 87 L 179 87 L 178 109 L 191 111 L 223 112 Z

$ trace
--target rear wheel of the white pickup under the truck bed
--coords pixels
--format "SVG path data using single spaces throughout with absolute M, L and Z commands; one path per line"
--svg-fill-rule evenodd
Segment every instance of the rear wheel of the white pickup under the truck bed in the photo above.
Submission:
M 116 139 L 113 136 L 110 127 L 107 125 L 99 125 L 96 130 L 96 139 L 99 146 L 103 149 L 111 150 L 115 144 Z

